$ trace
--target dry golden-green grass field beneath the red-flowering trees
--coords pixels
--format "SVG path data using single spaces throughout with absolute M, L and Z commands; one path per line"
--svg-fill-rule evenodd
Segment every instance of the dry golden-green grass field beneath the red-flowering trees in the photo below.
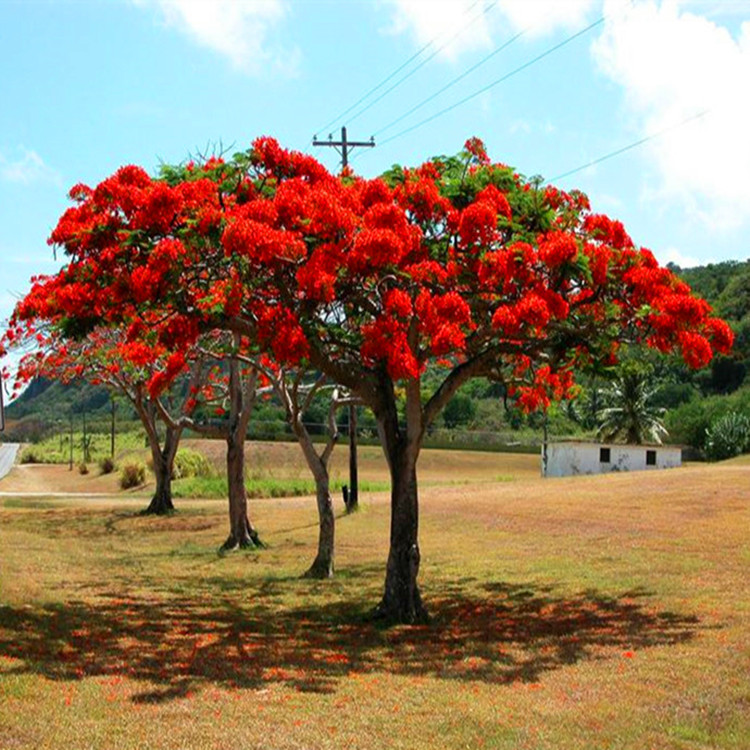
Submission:
M 421 469 L 420 628 L 365 618 L 386 493 L 339 519 L 325 582 L 299 578 L 310 498 L 253 501 L 268 548 L 225 557 L 215 500 L 0 498 L 0 747 L 750 747 L 750 463 Z

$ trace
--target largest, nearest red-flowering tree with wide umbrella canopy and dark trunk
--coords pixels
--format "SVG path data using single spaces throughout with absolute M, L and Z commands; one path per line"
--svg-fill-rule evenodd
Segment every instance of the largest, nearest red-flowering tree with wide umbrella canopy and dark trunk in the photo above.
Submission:
M 228 162 L 125 167 L 79 186 L 51 241 L 70 257 L 47 298 L 82 329 L 158 308 L 175 367 L 202 331 L 312 368 L 374 413 L 391 472 L 391 534 L 376 613 L 426 617 L 418 586 L 417 459 L 470 378 L 527 410 L 575 394 L 620 342 L 692 367 L 731 346 L 709 306 L 581 193 L 529 182 L 482 144 L 364 180 L 272 139 Z M 428 365 L 442 367 L 427 390 Z M 151 387 L 170 379 L 170 365 Z

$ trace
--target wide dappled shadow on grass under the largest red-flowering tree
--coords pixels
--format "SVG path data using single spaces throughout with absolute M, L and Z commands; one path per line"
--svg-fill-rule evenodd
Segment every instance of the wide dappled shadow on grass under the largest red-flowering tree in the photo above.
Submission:
M 395 673 L 508 684 L 537 682 L 583 660 L 620 658 L 694 637 L 696 617 L 658 612 L 647 593 L 574 596 L 551 587 L 494 583 L 471 598 L 445 587 L 428 602 L 430 625 L 380 628 L 362 602 L 284 609 L 191 597 L 100 593 L 101 602 L 0 606 L 5 672 L 71 680 L 120 675 L 166 702 L 201 685 L 258 689 L 283 683 L 333 692 L 354 674 Z M 18 661 L 16 661 L 18 660 Z

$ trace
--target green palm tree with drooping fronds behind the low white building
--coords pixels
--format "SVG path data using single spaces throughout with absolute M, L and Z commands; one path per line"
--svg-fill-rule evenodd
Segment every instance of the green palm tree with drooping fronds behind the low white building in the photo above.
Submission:
M 610 442 L 624 435 L 625 442 L 631 445 L 661 443 L 668 433 L 662 421 L 665 409 L 649 405 L 655 391 L 648 386 L 648 373 L 623 372 L 604 394 L 605 403 L 610 406 L 597 414 L 597 437 Z

